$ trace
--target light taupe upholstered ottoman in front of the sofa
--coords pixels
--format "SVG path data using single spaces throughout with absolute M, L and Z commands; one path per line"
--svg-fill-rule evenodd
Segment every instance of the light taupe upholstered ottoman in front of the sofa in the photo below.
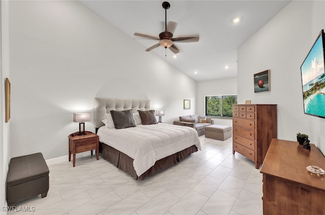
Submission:
M 228 125 L 212 124 L 205 128 L 205 137 L 215 140 L 226 140 L 232 137 L 232 127 Z

